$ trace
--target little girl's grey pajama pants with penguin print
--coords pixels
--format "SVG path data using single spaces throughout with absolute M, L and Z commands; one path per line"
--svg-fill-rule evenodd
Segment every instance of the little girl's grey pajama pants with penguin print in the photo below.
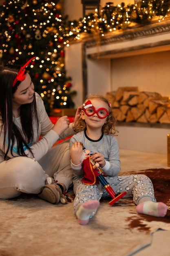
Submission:
M 156 202 L 152 182 L 146 175 L 107 176 L 105 178 L 116 194 L 126 191 L 127 194 L 124 198 L 133 198 L 133 202 L 136 205 L 144 201 Z M 102 184 L 85 185 L 81 180 L 82 177 L 76 177 L 73 180 L 75 193 L 74 213 L 80 204 L 84 202 L 100 200 L 102 197 L 110 196 Z

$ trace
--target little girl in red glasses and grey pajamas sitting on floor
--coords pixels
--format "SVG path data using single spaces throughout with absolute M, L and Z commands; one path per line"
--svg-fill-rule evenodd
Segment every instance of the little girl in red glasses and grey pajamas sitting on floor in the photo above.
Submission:
M 156 202 L 152 182 L 146 175 L 117 176 L 120 173 L 119 147 L 110 102 L 101 95 L 91 95 L 74 125 L 77 134 L 71 138 L 70 148 L 74 172 L 74 213 L 79 224 L 88 224 L 99 207 L 99 200 L 102 196 L 109 196 L 99 182 L 92 185 L 83 183 L 82 144 L 91 151 L 91 158 L 102 168 L 115 193 L 126 191 L 124 198 L 133 198 L 137 213 L 164 217 L 167 206 Z

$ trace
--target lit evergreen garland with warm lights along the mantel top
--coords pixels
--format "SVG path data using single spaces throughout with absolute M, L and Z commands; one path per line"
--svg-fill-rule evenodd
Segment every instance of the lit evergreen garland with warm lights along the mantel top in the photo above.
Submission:
M 158 17 L 158 21 L 164 20 L 170 14 L 170 0 L 135 0 L 136 4 L 128 4 L 124 2 L 113 6 L 112 2 L 108 2 L 97 13 L 89 14 L 79 20 L 69 21 L 69 35 L 74 39 L 80 39 L 81 33 L 96 34 L 104 36 L 106 32 L 115 32 L 120 29 L 127 29 L 130 25 L 147 25 L 154 17 Z

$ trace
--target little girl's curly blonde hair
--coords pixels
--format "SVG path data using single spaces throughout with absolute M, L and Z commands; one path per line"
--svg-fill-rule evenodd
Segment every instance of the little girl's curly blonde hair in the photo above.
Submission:
M 86 101 L 84 103 L 86 103 L 88 100 L 91 100 L 91 99 L 98 99 L 100 101 L 105 102 L 108 105 L 109 115 L 107 117 L 106 124 L 104 124 L 103 127 L 102 127 L 102 131 L 104 132 L 104 134 L 107 134 L 107 135 L 115 135 L 116 132 L 118 132 L 118 131 L 115 129 L 116 119 L 115 119 L 115 116 L 113 114 L 110 102 L 108 101 L 108 99 L 106 99 L 102 95 L 90 94 L 90 96 L 86 99 Z M 80 115 L 79 119 L 77 121 L 75 121 L 74 128 L 75 128 L 76 132 L 86 130 L 86 122 L 82 119 L 81 115 Z M 117 135 L 115 135 L 115 136 L 117 136 Z

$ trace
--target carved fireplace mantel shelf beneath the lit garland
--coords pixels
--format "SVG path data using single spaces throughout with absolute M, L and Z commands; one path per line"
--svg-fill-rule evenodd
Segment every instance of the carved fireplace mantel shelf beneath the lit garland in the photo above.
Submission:
M 148 25 L 133 25 L 128 29 L 85 42 L 90 59 L 121 58 L 170 50 L 170 19 L 155 19 Z

